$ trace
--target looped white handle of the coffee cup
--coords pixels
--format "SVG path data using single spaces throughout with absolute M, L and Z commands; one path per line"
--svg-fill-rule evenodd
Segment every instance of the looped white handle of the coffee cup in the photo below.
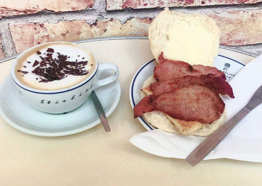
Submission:
M 115 71 L 114 74 L 112 74 L 111 76 L 104 78 L 104 79 L 98 79 L 99 76 L 101 75 L 101 73 L 105 70 L 113 70 Z M 95 85 L 95 89 L 99 88 L 100 86 L 104 86 L 107 85 L 111 82 L 113 82 L 114 80 L 116 80 L 119 76 L 119 70 L 118 67 L 113 64 L 113 63 L 102 63 L 98 65 L 98 70 L 97 70 L 97 82 Z

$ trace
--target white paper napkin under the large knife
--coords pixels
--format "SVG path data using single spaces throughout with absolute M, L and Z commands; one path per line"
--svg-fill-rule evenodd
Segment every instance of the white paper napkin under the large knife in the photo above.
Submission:
M 235 99 L 224 97 L 227 121 L 247 104 L 262 85 L 262 55 L 243 67 L 229 84 Z M 204 139 L 206 137 L 178 135 L 156 129 L 136 134 L 129 141 L 157 156 L 185 159 Z M 262 162 L 262 104 L 238 123 L 204 160 L 217 158 Z

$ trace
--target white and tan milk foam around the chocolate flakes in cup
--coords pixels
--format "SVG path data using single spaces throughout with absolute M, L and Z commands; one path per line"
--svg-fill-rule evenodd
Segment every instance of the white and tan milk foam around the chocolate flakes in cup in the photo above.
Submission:
M 40 46 L 42 47 L 42 46 Z M 33 67 L 34 61 L 37 60 L 38 62 L 41 62 L 42 57 L 46 57 L 45 54 L 46 50 L 48 48 L 54 49 L 54 53 L 52 55 L 52 58 L 57 58 L 58 59 L 58 53 L 62 55 L 67 55 L 70 56 L 70 58 L 67 58 L 67 61 L 88 61 L 87 65 L 85 65 L 84 69 L 88 71 L 89 73 L 87 75 L 67 75 L 67 77 L 61 79 L 61 80 L 54 80 L 54 81 L 49 81 L 49 82 L 39 82 L 41 80 L 41 76 L 36 75 L 32 73 L 32 71 L 40 66 L 40 63 L 36 66 Z M 46 46 L 42 48 L 33 48 L 33 52 L 30 50 L 26 52 L 23 56 L 26 56 L 24 58 L 21 57 L 21 60 L 17 62 L 17 65 L 15 67 L 15 73 L 16 77 L 26 86 L 29 86 L 31 88 L 36 88 L 40 90 L 56 90 L 56 89 L 63 89 L 63 88 L 70 88 L 71 86 L 85 80 L 89 75 L 94 71 L 96 63 L 95 63 L 95 58 L 89 52 L 88 50 L 85 50 L 81 47 L 78 47 L 74 44 L 68 44 L 68 43 L 58 43 L 58 44 L 47 44 Z M 37 51 L 40 51 L 41 54 L 38 55 Z M 27 56 L 28 55 L 28 56 Z M 84 58 L 84 59 L 82 59 Z M 27 63 L 27 61 L 31 63 Z M 24 67 L 25 66 L 25 67 Z M 46 67 L 49 67 L 48 65 Z M 82 69 L 82 70 L 84 70 Z M 26 71 L 28 72 L 27 74 L 17 72 L 17 70 L 21 71 Z M 41 78 L 40 78 L 41 77 Z M 38 79 L 36 79 L 38 78 Z

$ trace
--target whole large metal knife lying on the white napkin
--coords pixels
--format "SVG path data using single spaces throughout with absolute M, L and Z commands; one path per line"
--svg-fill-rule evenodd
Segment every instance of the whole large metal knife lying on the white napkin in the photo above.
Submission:
M 187 156 L 186 161 L 192 166 L 195 166 L 206 157 L 251 110 L 259 106 L 261 103 L 262 85 L 256 90 L 247 105 L 198 145 L 198 147 Z

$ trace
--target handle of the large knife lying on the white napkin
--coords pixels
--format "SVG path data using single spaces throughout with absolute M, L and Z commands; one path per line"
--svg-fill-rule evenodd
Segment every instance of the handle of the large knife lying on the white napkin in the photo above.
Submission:
M 228 133 L 240 122 L 250 110 L 244 107 L 236 115 L 234 115 L 228 122 L 226 122 L 217 131 L 207 137 L 189 156 L 186 161 L 195 166 L 204 157 L 206 157 L 225 137 Z

